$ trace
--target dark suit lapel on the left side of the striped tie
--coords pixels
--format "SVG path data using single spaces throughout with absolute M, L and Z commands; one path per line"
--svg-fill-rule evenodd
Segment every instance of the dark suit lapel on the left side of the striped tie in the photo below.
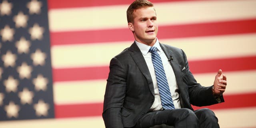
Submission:
M 136 65 L 138 66 L 138 68 L 140 69 L 142 74 L 146 77 L 146 79 L 148 81 L 148 86 L 150 88 L 150 91 L 154 95 L 154 86 L 153 86 L 152 78 L 150 76 L 148 66 L 146 64 L 146 61 L 145 61 L 140 49 L 138 48 L 138 46 L 134 42 L 130 46 L 130 48 L 128 48 L 128 50 L 131 51 L 130 55 L 132 56 L 134 62 L 136 63 Z

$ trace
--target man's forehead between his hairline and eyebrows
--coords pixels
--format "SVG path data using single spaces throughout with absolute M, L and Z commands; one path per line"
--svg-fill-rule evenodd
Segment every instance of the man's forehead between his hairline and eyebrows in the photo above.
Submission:
M 134 15 L 134 19 L 142 18 L 142 17 L 152 17 L 152 16 L 156 16 L 156 11 L 154 7 L 144 7 L 144 8 L 139 8 L 137 10 L 134 10 L 133 15 Z

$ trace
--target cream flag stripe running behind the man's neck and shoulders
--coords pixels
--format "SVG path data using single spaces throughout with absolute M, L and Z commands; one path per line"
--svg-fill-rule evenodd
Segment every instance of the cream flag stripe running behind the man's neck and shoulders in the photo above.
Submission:
M 181 48 L 189 60 L 203 60 L 256 55 L 255 40 L 256 34 L 240 34 L 231 36 L 159 39 L 159 42 Z M 109 65 L 111 58 L 131 44 L 132 41 L 52 46 L 52 66 L 54 68 L 106 66 Z M 243 44 L 242 47 L 241 44 Z M 220 46 L 222 47 L 221 52 L 213 50 L 219 49 Z M 93 56 L 85 56 L 88 54 L 93 54 Z

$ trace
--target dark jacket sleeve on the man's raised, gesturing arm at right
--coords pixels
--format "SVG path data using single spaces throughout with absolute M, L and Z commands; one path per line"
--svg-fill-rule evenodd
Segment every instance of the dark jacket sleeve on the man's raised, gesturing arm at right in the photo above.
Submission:
M 208 106 L 219 103 L 212 94 L 212 86 L 201 86 L 196 82 L 193 74 L 189 70 L 188 60 L 184 52 L 183 56 L 186 66 L 186 74 L 183 76 L 183 80 L 188 86 L 190 103 L 194 106 Z M 220 99 L 222 100 L 221 102 L 224 102 L 223 96 L 220 96 Z

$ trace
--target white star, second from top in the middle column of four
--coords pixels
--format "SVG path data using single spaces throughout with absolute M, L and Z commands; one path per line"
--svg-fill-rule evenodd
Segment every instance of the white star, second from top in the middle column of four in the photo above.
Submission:
M 21 37 L 19 41 L 16 42 L 16 48 L 18 49 L 18 53 L 28 53 L 29 52 L 29 47 L 30 47 L 30 42 L 26 40 L 24 37 Z

